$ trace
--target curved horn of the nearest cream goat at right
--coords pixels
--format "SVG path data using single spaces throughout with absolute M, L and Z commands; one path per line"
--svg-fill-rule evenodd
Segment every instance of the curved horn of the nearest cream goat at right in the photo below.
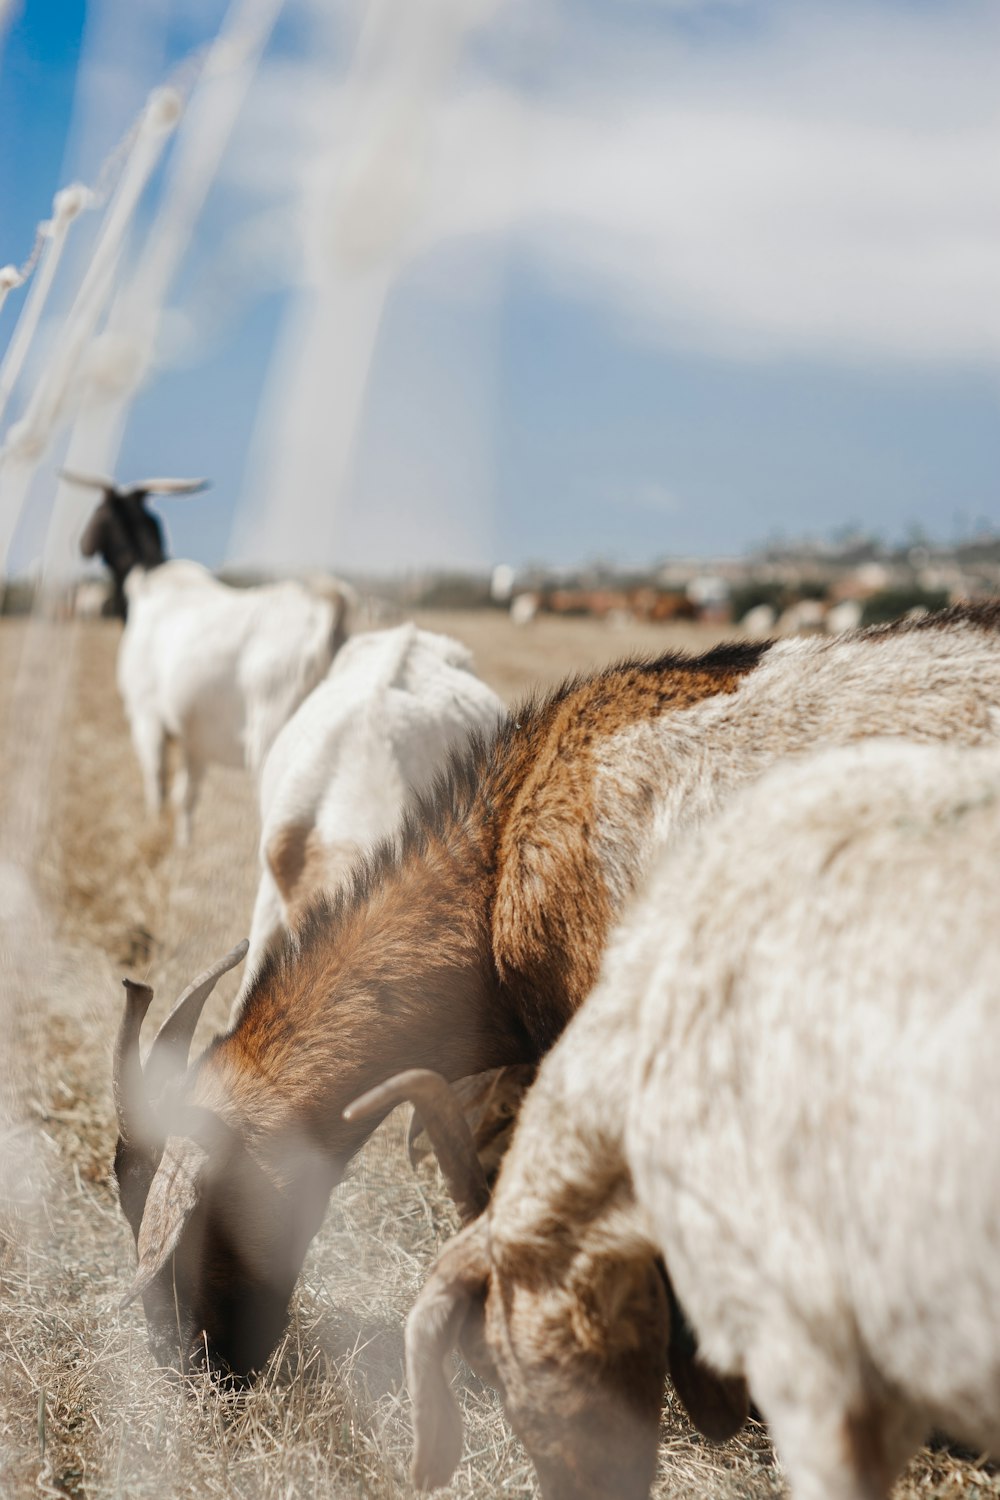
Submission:
M 409 1068 L 369 1089 L 343 1112 L 345 1120 L 387 1114 L 409 1100 L 420 1110 L 424 1130 L 441 1164 L 448 1191 L 463 1224 L 478 1218 L 490 1200 L 486 1173 L 475 1152 L 475 1142 L 451 1084 L 430 1068 Z

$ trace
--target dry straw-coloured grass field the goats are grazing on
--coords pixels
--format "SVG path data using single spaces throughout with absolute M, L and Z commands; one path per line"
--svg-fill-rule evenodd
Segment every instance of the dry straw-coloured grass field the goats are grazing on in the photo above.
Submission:
M 423 622 L 468 640 L 507 699 L 634 650 L 709 642 L 694 627 Z M 189 850 L 150 826 L 117 639 L 111 622 L 0 622 L 0 1496 L 406 1496 L 402 1323 L 454 1221 L 436 1168 L 411 1173 L 402 1119 L 334 1194 L 288 1336 L 249 1392 L 157 1372 L 141 1308 L 118 1310 L 133 1264 L 109 1182 L 118 981 L 148 978 L 160 1016 L 244 936 L 256 812 L 249 776 L 213 771 Z M 237 982 L 219 986 L 199 1040 Z M 535 1494 L 493 1392 L 465 1370 L 457 1384 L 466 1444 L 445 1494 Z M 781 1492 L 760 1428 L 712 1448 L 667 1395 L 661 1500 Z M 1000 1496 L 1000 1479 L 927 1452 L 900 1492 Z

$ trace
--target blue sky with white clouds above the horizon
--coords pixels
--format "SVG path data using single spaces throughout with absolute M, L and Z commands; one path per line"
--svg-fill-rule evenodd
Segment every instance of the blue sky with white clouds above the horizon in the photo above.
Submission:
M 454 56 L 421 6 L 439 56 L 390 46 L 385 104 L 351 84 L 357 8 L 286 4 L 117 465 L 213 477 L 163 507 L 178 554 L 631 564 L 1000 525 L 996 6 L 501 0 Z M 0 262 L 220 15 L 15 8 Z M 345 222 L 375 280 L 334 264 Z M 321 316 L 343 338 L 297 340 Z

